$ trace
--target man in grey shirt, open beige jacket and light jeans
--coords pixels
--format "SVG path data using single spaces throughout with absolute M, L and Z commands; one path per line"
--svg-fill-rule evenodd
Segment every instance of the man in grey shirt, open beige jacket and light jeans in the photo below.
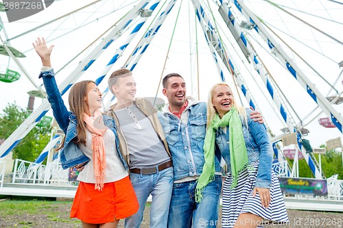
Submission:
M 139 201 L 139 211 L 126 218 L 125 227 L 141 225 L 150 194 L 150 227 L 167 227 L 174 171 L 156 110 L 149 101 L 135 98 L 136 82 L 127 69 L 113 72 L 108 88 L 117 103 L 107 114 L 115 119 L 119 147 L 129 164 L 131 183 Z

